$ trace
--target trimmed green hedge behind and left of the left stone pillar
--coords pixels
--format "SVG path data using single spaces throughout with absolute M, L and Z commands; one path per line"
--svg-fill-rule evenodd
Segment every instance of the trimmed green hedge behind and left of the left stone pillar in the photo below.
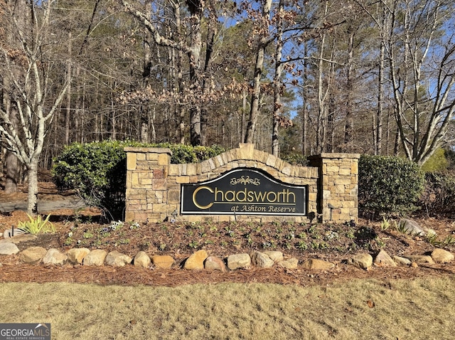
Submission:
M 225 151 L 222 147 L 191 147 L 183 144 L 143 144 L 127 141 L 73 143 L 54 159 L 52 176 L 59 188 L 75 189 L 109 218 L 121 219 L 125 206 L 127 154 L 124 147 L 166 147 L 171 163 L 197 163 Z

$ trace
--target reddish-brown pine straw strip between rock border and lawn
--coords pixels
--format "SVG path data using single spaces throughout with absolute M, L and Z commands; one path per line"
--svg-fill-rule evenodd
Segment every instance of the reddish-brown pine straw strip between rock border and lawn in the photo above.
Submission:
M 419 267 L 372 267 L 360 270 L 339 264 L 333 270 L 313 272 L 273 267 L 229 272 L 208 270 L 145 269 L 125 267 L 85 267 L 82 265 L 2 265 L 0 282 L 76 282 L 96 285 L 149 285 L 176 287 L 179 285 L 235 283 L 268 283 L 280 285 L 332 285 L 353 279 L 375 279 L 390 284 L 390 280 L 454 275 L 455 264 L 420 265 Z

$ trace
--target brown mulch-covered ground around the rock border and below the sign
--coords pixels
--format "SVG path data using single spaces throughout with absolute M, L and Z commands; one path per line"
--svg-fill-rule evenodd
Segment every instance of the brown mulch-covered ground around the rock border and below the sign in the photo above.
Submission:
M 0 191 L 0 203 L 26 200 L 26 188 L 6 195 Z M 39 199 L 62 200 L 74 193 L 60 193 L 49 182 L 41 182 Z M 175 286 L 218 282 L 268 282 L 298 285 L 330 285 L 355 278 L 375 278 L 389 285 L 390 280 L 451 275 L 455 264 L 415 265 L 410 267 L 378 267 L 360 270 L 346 261 L 355 253 L 375 255 L 385 250 L 390 255 L 424 255 L 435 247 L 455 252 L 455 222 L 452 218 L 416 218 L 425 228 L 437 233 L 437 242 L 401 233 L 391 221 L 389 228 L 380 222 L 360 220 L 356 225 L 305 225 L 293 223 L 101 223 L 96 208 L 59 209 L 48 212 L 56 233 L 38 234 L 38 239 L 19 243 L 23 250 L 33 245 L 66 251 L 75 247 L 117 250 L 134 256 L 139 250 L 148 255 L 171 255 L 176 266 L 170 270 L 126 267 L 84 267 L 24 265 L 18 256 L 0 256 L 0 282 L 93 282 L 100 285 L 161 285 Z M 26 213 L 14 211 L 0 214 L 0 232 L 11 225 L 28 221 Z M 452 236 L 453 235 L 453 236 Z M 454 241 L 454 242 L 452 242 Z M 310 272 L 252 268 L 230 272 L 187 271 L 181 264 L 196 250 L 205 249 L 209 255 L 222 258 L 233 253 L 252 250 L 280 250 L 299 261 L 308 258 L 330 260 L 332 270 Z

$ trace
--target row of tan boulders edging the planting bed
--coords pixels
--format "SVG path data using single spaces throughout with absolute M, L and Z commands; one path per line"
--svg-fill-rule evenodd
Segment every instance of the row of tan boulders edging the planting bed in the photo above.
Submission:
M 11 239 L 9 239 L 11 240 Z M 14 240 L 16 241 L 16 240 Z M 105 250 L 87 248 L 72 248 L 66 253 L 61 253 L 55 248 L 46 250 L 42 247 L 29 247 L 18 252 L 18 248 L 14 242 L 0 243 L 0 260 L 1 257 L 9 255 L 18 255 L 21 262 L 28 265 L 65 265 L 71 263 L 73 265 L 85 266 L 111 266 L 123 267 L 125 265 L 134 265 L 135 267 L 143 267 L 148 269 L 168 269 L 176 267 L 176 260 L 170 255 L 152 255 L 151 257 L 143 251 L 140 251 L 134 257 L 129 257 L 112 251 L 107 253 Z M 445 264 L 454 260 L 454 254 L 447 250 L 436 248 L 431 255 L 401 255 L 391 257 L 384 250 L 380 250 L 375 257 L 369 253 L 357 253 L 343 263 L 353 265 L 363 270 L 370 270 L 373 265 L 375 267 L 396 267 L 408 265 L 417 267 L 419 264 Z M 1 265 L 1 262 L 0 262 Z M 294 270 L 299 267 L 306 270 L 331 270 L 335 267 L 335 263 L 311 258 L 299 261 L 296 257 L 287 257 L 279 251 L 259 252 L 253 251 L 250 254 L 239 253 L 231 254 L 224 259 L 216 256 L 209 256 L 205 250 L 198 250 L 189 255 L 186 260 L 179 263 L 177 266 L 183 270 L 220 270 L 226 272 L 228 270 L 248 270 L 250 267 L 269 268 L 277 265 L 284 267 L 287 270 Z

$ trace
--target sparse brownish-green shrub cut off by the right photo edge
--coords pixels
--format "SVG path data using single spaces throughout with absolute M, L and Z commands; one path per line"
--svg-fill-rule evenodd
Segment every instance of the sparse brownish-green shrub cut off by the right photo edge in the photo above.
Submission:
M 425 189 L 419 205 L 428 216 L 455 211 L 455 174 L 429 172 L 425 174 Z

